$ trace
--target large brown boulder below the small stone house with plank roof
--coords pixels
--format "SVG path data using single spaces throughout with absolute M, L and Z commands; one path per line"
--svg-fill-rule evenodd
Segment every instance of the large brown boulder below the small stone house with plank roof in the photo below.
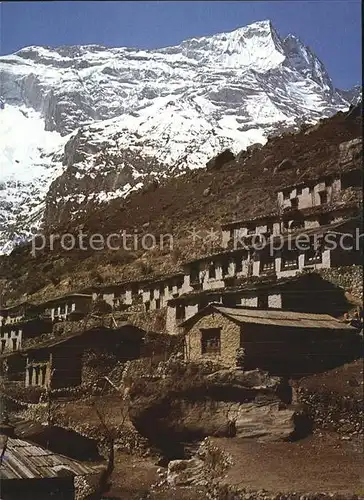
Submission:
M 131 420 L 161 449 L 206 436 L 290 440 L 305 434 L 309 423 L 289 404 L 289 393 L 282 379 L 259 370 L 185 373 L 148 381 L 138 395 L 132 388 Z

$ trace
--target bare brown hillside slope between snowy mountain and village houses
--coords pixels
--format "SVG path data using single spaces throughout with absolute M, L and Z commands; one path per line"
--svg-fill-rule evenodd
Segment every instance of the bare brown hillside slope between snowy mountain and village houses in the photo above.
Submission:
M 33 257 L 31 246 L 24 245 L 0 258 L 1 288 L 8 298 L 38 300 L 91 283 L 173 272 L 184 260 L 211 251 L 200 242 L 192 245 L 189 230 L 219 229 L 222 222 L 275 210 L 277 187 L 340 170 L 340 144 L 361 137 L 361 126 L 361 107 L 352 108 L 299 133 L 275 137 L 220 168 L 212 164 L 152 183 L 122 202 L 112 200 L 80 212 L 49 231 L 77 234 L 82 228 L 89 236 L 123 230 L 139 236 L 171 233 L 173 249 L 65 251 L 56 245 Z M 281 171 L 277 167 L 284 159 L 290 160 L 291 168 Z M 361 162 L 358 154 L 349 165 L 360 168 Z

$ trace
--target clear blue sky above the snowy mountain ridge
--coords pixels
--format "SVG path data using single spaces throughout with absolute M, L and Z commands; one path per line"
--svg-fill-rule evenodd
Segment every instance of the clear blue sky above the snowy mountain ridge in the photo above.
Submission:
M 361 82 L 360 0 L 2 2 L 0 52 L 29 45 L 158 48 L 270 19 L 320 57 L 334 84 Z

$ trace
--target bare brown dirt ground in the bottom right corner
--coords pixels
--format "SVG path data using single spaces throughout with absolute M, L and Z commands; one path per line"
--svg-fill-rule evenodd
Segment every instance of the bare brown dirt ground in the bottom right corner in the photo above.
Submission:
M 336 435 L 310 436 L 295 443 L 258 443 L 216 439 L 233 458 L 224 482 L 272 492 L 337 492 L 364 494 L 360 442 Z

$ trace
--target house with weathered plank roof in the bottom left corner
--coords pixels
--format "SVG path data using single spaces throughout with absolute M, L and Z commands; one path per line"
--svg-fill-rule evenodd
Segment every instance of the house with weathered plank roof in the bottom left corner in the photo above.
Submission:
M 0 464 L 2 500 L 75 500 L 75 477 L 99 472 L 89 464 L 17 439 L 8 424 L 0 424 L 0 442 L 6 443 Z

